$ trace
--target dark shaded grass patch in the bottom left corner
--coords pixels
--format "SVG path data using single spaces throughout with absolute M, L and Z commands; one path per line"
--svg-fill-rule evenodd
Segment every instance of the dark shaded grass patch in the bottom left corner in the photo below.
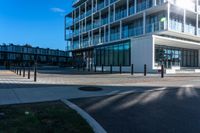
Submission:
M 27 112 L 27 113 L 26 113 Z M 92 133 L 74 110 L 60 101 L 0 106 L 0 133 Z

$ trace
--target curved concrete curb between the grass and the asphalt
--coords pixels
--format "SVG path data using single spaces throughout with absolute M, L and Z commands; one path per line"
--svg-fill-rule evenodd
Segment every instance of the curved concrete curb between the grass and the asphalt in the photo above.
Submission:
M 107 133 L 105 129 L 83 109 L 66 99 L 62 99 L 61 101 L 80 114 L 88 122 L 95 133 Z

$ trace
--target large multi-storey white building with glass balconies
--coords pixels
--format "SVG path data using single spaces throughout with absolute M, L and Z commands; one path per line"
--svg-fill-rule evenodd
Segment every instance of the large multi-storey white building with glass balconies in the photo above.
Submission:
M 65 39 L 76 63 L 155 72 L 200 67 L 200 0 L 74 0 Z

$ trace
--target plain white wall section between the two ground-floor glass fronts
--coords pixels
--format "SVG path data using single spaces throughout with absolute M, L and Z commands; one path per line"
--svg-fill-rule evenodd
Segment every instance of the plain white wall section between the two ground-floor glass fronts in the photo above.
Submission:
M 135 72 L 143 72 L 147 64 L 147 72 L 153 71 L 154 44 L 152 35 L 131 39 L 131 63 Z

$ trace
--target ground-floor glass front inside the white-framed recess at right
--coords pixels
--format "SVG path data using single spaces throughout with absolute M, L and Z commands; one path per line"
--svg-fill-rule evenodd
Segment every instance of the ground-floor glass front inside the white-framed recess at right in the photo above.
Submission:
M 198 67 L 198 60 L 198 50 L 161 45 L 156 45 L 155 47 L 156 66 L 164 64 L 166 68 L 171 68 L 172 66 Z

